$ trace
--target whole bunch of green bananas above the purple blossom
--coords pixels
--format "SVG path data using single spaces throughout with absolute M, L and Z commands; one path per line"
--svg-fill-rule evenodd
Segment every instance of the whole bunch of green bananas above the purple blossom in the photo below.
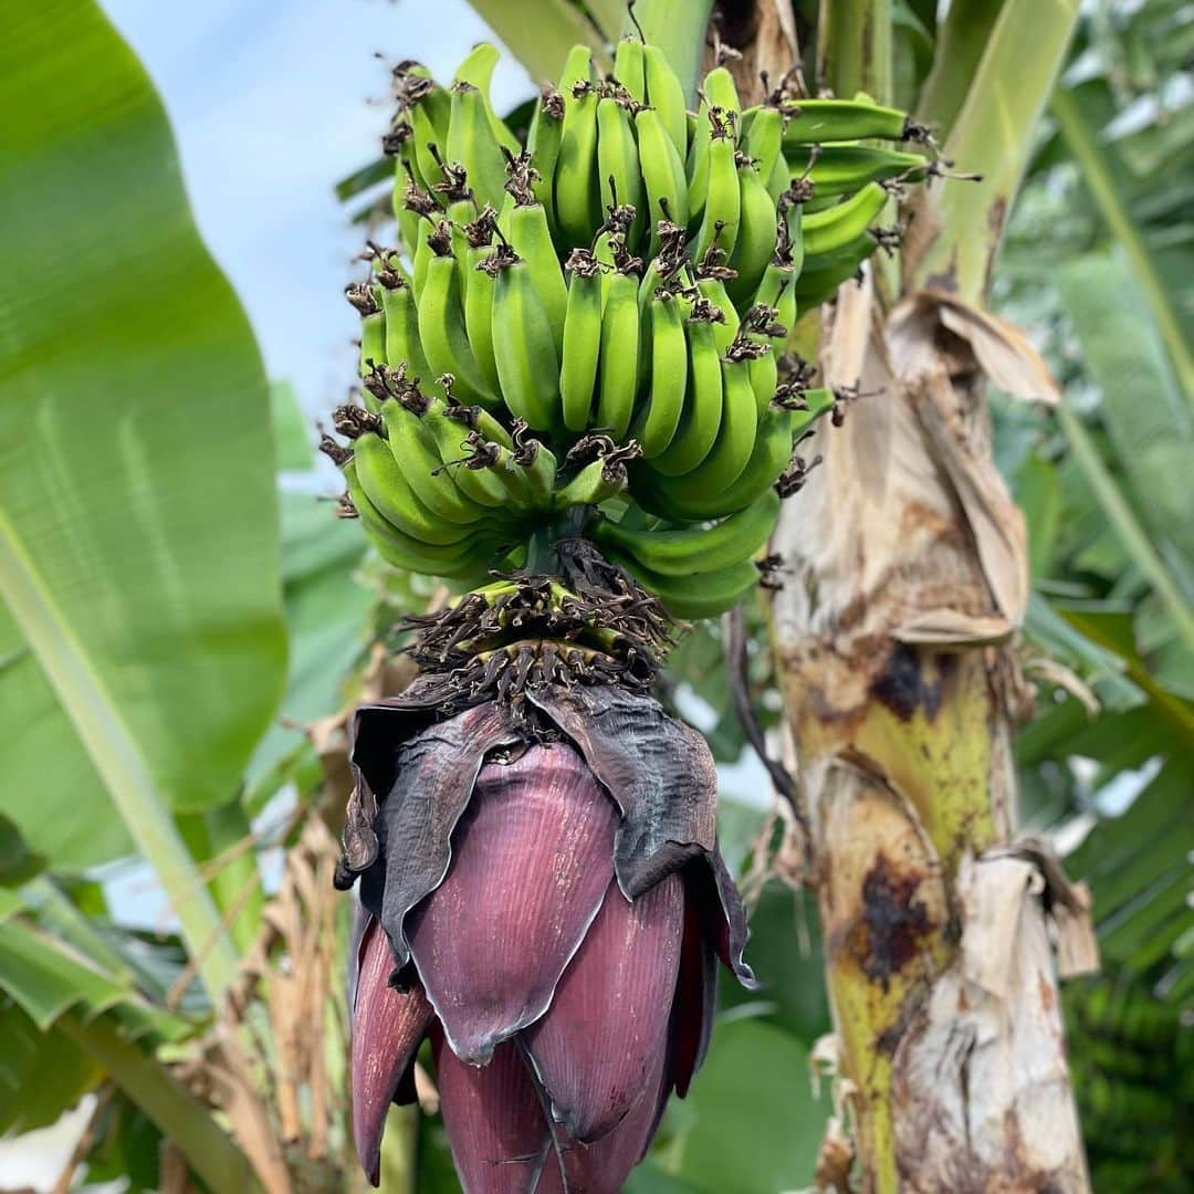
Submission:
M 720 613 L 758 580 L 796 443 L 839 407 L 788 333 L 888 242 L 898 183 L 934 170 L 874 142 L 923 131 L 787 80 L 744 110 L 724 66 L 690 112 L 628 37 L 608 78 L 568 54 L 523 146 L 490 103 L 497 59 L 476 47 L 447 88 L 395 69 L 400 244 L 349 290 L 345 512 L 392 562 L 464 581 L 584 535 L 675 616 Z

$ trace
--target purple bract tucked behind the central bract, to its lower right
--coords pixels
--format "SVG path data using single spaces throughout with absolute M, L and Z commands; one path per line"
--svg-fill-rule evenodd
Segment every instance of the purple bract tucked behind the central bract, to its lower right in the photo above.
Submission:
M 614 1128 L 658 1073 L 676 991 L 684 887 L 679 875 L 633 904 L 611 884 L 527 1052 L 574 1140 Z

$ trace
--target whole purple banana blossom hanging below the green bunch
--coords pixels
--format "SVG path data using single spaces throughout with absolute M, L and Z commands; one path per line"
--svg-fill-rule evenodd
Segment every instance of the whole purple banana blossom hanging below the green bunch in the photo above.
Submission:
M 466 1194 L 613 1194 L 708 1045 L 716 960 L 753 984 L 703 739 L 615 687 L 432 721 L 359 710 L 352 1095 L 376 1184 L 430 1039 Z

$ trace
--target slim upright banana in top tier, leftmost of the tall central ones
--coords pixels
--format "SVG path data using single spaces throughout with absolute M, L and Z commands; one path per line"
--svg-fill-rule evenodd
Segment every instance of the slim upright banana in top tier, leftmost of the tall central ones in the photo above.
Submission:
M 586 45 L 573 48 L 564 66 L 564 128 L 553 187 L 555 224 L 570 248 L 583 248 L 602 222 L 597 177 L 597 90 L 592 55 Z

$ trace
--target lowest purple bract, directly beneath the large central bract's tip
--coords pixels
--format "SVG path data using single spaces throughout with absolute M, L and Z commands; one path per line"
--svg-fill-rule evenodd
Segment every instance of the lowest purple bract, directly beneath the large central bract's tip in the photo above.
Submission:
M 485 1066 L 435 1046 L 444 1127 L 464 1194 L 531 1194 L 552 1137 L 527 1064 L 513 1042 Z

